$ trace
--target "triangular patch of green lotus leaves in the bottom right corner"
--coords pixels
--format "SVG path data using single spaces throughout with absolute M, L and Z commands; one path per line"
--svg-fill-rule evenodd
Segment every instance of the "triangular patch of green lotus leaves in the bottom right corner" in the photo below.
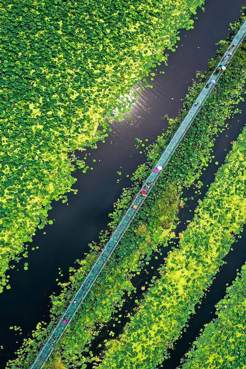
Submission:
M 188 352 L 182 369 L 243 369 L 246 366 L 246 265 L 238 273 L 224 299 L 216 305 L 216 315 Z

